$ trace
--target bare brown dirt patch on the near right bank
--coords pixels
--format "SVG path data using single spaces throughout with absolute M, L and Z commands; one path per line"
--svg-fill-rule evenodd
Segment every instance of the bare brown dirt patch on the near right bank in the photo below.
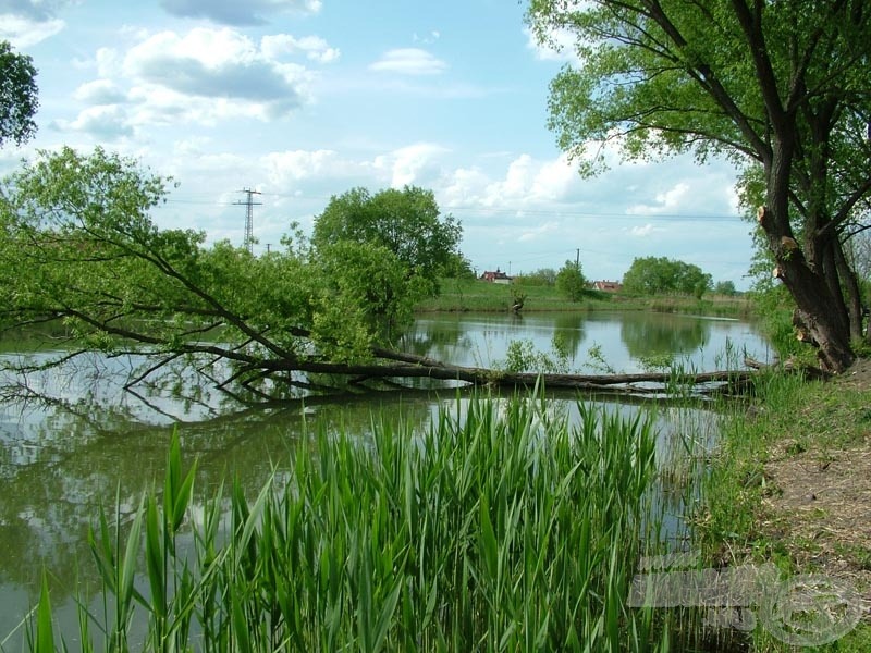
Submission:
M 761 526 L 801 570 L 849 581 L 871 611 L 871 360 L 829 383 L 832 396 L 850 401 L 808 407 L 815 420 L 796 416 L 795 438 L 765 464 Z M 814 424 L 824 438 L 814 438 Z

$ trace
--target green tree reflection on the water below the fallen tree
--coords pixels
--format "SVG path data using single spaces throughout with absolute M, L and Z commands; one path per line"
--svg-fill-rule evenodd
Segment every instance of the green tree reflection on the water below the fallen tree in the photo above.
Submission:
M 0 639 L 26 607 L 4 605 L 9 593 L 25 588 L 34 602 L 44 567 L 54 575 L 56 601 L 77 587 L 96 587 L 88 527 L 101 506 L 113 515 L 116 502 L 126 521 L 144 492 L 160 490 L 175 428 L 132 421 L 127 410 L 111 406 L 91 406 L 88 415 L 64 404 L 42 406 L 38 420 L 32 406 L 17 408 L 7 405 L 0 424 Z M 365 436 L 373 410 L 420 427 L 432 409 L 433 397 L 422 394 L 383 402 L 347 396 L 340 404 L 312 399 L 185 423 L 179 433 L 187 464 L 197 459 L 195 504 L 233 478 L 255 496 L 277 470 L 290 469 L 300 446 L 309 455 L 307 435 L 315 430 Z

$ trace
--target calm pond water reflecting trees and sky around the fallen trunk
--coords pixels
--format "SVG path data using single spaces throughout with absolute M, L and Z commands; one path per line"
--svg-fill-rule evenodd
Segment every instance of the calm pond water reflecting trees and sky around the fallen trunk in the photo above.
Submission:
M 648 312 L 567 312 L 513 315 L 434 313 L 418 318 L 403 346 L 418 354 L 467 366 L 499 367 L 513 341 L 551 350 L 554 336 L 572 371 L 622 372 L 647 369 L 663 356 L 697 371 L 723 369 L 769 350 L 746 322 Z M 26 354 L 27 343 L 5 342 L 0 356 Z M 466 394 L 409 390 L 310 399 L 268 408 L 244 408 L 210 389 L 177 398 L 172 392 L 135 395 L 119 385 L 123 358 L 93 357 L 68 374 L 35 374 L 26 386 L 42 398 L 0 404 L 0 642 L 38 600 L 40 574 L 49 569 L 52 601 L 61 630 L 75 631 L 72 597 L 96 587 L 87 545 L 89 526 L 100 506 L 116 498 L 132 514 L 142 493 L 162 479 L 168 443 L 177 428 L 186 463 L 198 460 L 197 495 L 209 496 L 237 477 L 252 494 L 308 446 L 315 429 L 366 436 L 372 412 L 426 427 L 440 409 L 462 410 Z M 184 385 L 189 379 L 180 378 Z M 186 390 L 191 390 L 189 387 Z M 46 398 L 47 397 L 47 398 Z M 576 396 L 554 401 L 573 412 Z M 587 399 L 585 399 L 587 401 Z M 631 414 L 638 406 L 608 401 L 608 410 Z M 667 410 L 659 415 L 665 438 Z M 711 435 L 703 414 L 692 429 Z M 65 608 L 64 608 L 65 603 Z M 15 648 L 12 639 L 4 649 Z

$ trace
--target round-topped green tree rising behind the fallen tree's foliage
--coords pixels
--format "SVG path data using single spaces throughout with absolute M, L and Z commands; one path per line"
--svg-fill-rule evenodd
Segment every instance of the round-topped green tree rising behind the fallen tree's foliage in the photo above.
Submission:
M 408 276 L 433 284 L 456 264 L 462 229 L 452 215 L 442 218 L 431 190 L 416 186 L 370 195 L 354 188 L 332 197 L 315 219 L 312 245 L 321 249 L 346 241 L 387 248 Z

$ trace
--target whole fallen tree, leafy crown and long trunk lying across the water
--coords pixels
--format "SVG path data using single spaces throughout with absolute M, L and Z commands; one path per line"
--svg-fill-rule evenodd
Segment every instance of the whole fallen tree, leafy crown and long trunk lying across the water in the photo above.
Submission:
M 61 368 L 99 352 L 135 359 L 125 390 L 160 383 L 171 367 L 184 364 L 185 383 L 208 382 L 250 403 L 300 389 L 395 389 L 414 379 L 501 386 L 543 380 L 551 389 L 633 394 L 661 393 L 677 380 L 670 373 L 540 378 L 385 346 L 410 322 L 415 303 L 432 291 L 431 280 L 416 272 L 420 261 L 413 268 L 383 245 L 331 239 L 323 230 L 317 248 L 287 238 L 283 250 L 260 257 L 226 242 L 207 247 L 203 233 L 159 230 L 148 217 L 168 182 L 99 149 L 89 157 L 71 149 L 44 153 L 7 180 L 0 326 L 9 333 L 38 324 L 28 329 L 29 337 L 63 335 L 76 347 L 8 360 L 8 373 Z M 426 194 L 408 197 L 414 206 L 422 202 L 432 220 Z M 400 202 L 403 196 L 388 199 Z M 336 211 L 329 212 L 330 224 L 340 220 Z M 458 230 L 451 225 L 449 243 Z M 734 383 L 746 374 L 680 381 Z

